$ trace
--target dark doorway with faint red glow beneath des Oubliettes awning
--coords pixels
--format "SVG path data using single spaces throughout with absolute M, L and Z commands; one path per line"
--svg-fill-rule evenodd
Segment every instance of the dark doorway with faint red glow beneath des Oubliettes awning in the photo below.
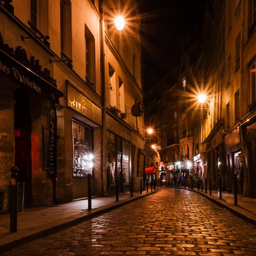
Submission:
M 15 166 L 18 167 L 18 182 L 24 185 L 24 205 L 31 204 L 31 117 L 28 92 L 14 91 L 14 137 Z

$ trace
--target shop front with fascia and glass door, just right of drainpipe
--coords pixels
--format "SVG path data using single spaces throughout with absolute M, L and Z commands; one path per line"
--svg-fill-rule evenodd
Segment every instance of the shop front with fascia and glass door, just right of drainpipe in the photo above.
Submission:
M 130 192 L 131 176 L 131 131 L 107 115 L 107 188 L 116 193 Z

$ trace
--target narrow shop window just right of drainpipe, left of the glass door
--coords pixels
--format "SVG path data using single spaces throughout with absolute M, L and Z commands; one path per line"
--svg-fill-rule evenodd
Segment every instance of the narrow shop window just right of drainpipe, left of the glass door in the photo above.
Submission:
M 107 132 L 107 155 L 108 155 L 108 165 L 107 165 L 107 175 L 108 175 L 108 185 L 115 185 L 116 176 L 116 138 L 113 133 Z

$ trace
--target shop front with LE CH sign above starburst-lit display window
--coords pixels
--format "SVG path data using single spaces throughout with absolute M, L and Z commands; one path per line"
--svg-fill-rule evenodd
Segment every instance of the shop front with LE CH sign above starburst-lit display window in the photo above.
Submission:
M 101 109 L 67 81 L 67 106 L 72 113 L 73 199 L 88 196 L 88 174 L 92 194 L 101 191 Z

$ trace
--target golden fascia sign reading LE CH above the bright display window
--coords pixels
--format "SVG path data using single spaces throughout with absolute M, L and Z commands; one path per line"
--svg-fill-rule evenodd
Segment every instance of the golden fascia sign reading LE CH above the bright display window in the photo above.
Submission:
M 93 122 L 102 125 L 102 110 L 68 82 L 67 105 Z

